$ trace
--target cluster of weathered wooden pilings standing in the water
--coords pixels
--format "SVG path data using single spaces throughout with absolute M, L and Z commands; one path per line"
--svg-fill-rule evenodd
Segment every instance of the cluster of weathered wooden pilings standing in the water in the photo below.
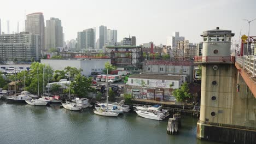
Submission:
M 167 134 L 168 135 L 178 135 L 179 128 L 181 128 L 181 114 L 175 113 L 173 118 L 169 118 L 167 125 Z

